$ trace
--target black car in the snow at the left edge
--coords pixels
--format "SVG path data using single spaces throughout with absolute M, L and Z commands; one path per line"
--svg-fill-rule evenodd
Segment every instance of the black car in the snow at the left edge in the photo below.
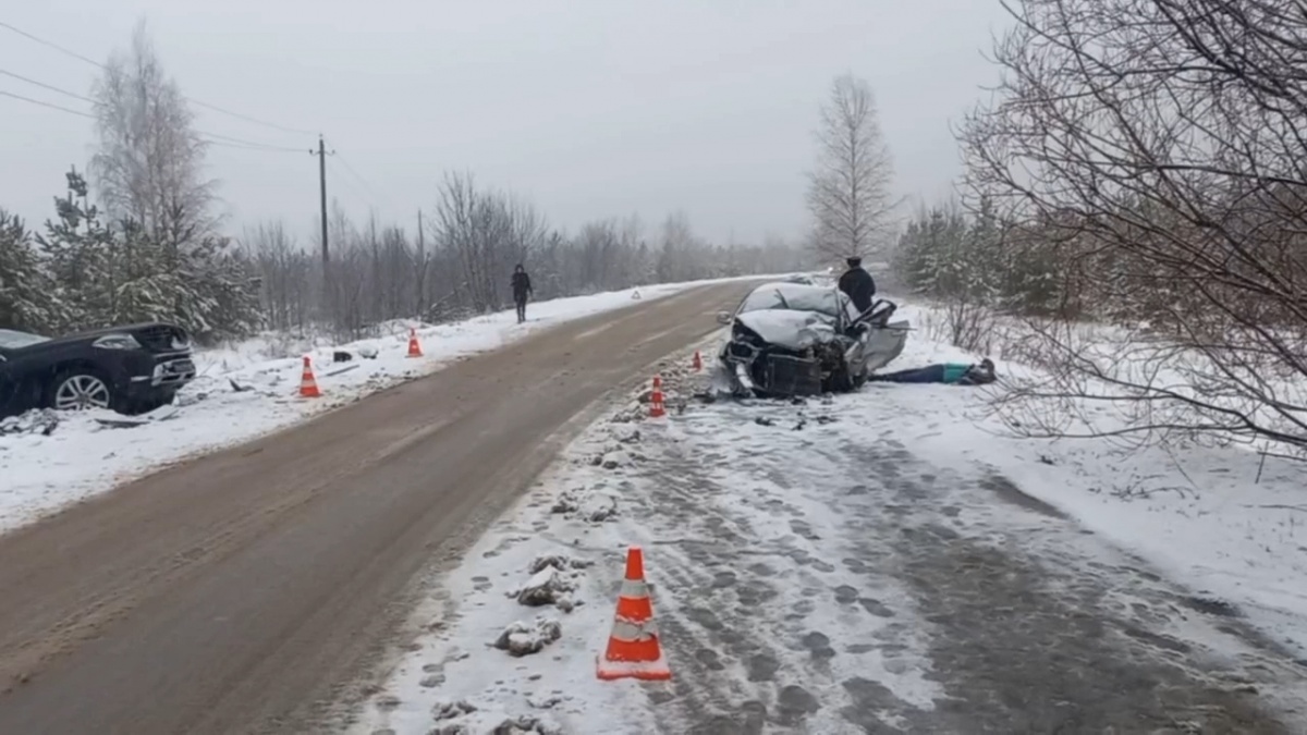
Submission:
M 195 378 L 191 337 L 173 324 L 43 337 L 0 330 L 0 417 L 33 408 L 142 413 Z

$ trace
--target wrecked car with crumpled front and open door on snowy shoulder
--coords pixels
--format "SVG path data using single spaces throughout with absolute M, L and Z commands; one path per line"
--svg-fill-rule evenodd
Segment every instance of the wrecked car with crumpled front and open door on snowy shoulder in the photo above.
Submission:
M 877 299 L 859 313 L 831 286 L 758 286 L 735 313 L 721 348 L 719 388 L 736 396 L 792 398 L 857 390 L 903 352 L 910 326 L 890 322 L 897 305 Z

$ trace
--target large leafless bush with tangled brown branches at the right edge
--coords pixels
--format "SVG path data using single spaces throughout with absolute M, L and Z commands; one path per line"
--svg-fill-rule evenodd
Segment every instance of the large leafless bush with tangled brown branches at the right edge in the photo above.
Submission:
M 1044 419 L 1025 426 L 1307 450 L 1302 4 L 1008 8 L 1001 89 L 961 131 L 970 191 L 1056 263 L 1064 302 L 1127 327 L 1107 353 L 1033 323 L 1052 378 L 1023 388 Z M 1047 421 L 1086 402 L 1124 416 Z

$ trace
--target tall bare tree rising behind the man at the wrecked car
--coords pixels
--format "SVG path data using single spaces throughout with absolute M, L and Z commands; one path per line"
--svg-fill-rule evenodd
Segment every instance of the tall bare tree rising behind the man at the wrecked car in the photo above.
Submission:
M 865 80 L 836 77 L 821 109 L 817 167 L 809 174 L 813 246 L 827 258 L 867 255 L 884 245 L 897 207 L 894 167 Z

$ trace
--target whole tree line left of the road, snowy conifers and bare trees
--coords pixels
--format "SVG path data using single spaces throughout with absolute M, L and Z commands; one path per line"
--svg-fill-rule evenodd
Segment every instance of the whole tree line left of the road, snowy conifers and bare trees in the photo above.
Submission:
M 780 239 L 714 245 L 682 213 L 656 226 L 599 220 L 575 233 L 550 226 L 528 200 L 469 173 L 433 186 L 425 224 L 405 228 L 329 216 L 302 239 L 269 221 L 225 231 L 217 182 L 176 82 L 144 25 L 95 81 L 95 153 L 43 226 L 0 208 L 0 328 L 60 333 L 170 320 L 201 341 L 260 330 L 358 337 L 389 319 L 455 319 L 508 302 L 508 273 L 524 263 L 536 298 L 652 282 L 792 271 L 812 258 Z

